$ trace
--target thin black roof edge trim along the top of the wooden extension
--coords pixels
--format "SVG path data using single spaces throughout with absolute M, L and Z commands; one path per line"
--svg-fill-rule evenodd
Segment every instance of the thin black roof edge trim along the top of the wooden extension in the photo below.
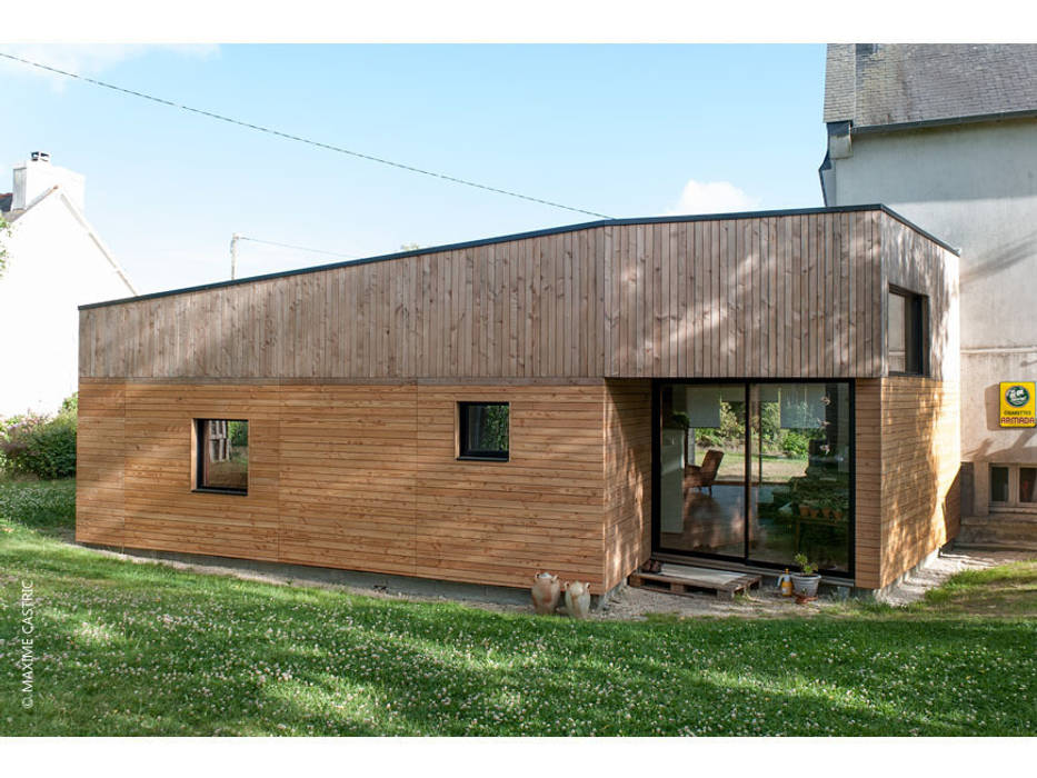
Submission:
M 960 251 L 953 246 L 944 242 L 939 238 L 917 225 L 911 223 L 896 211 L 881 203 L 867 206 L 836 206 L 832 208 L 792 208 L 786 210 L 770 211 L 738 211 L 735 213 L 696 213 L 694 216 L 654 216 L 634 219 L 601 219 L 599 221 L 585 221 L 579 225 L 566 225 L 564 227 L 551 227 L 544 230 L 532 230 L 530 232 L 516 232 L 496 238 L 481 238 L 479 240 L 469 240 L 462 243 L 448 243 L 446 246 L 428 246 L 412 251 L 399 251 L 397 253 L 380 255 L 378 257 L 365 257 L 363 259 L 348 259 L 341 262 L 331 262 L 329 265 L 315 265 L 309 268 L 298 268 L 296 270 L 283 270 L 281 272 L 266 273 L 263 276 L 250 276 L 248 278 L 236 278 L 232 281 L 216 281 L 215 283 L 202 283 L 197 287 L 185 287 L 182 289 L 171 289 L 169 291 L 152 292 L 150 295 L 140 295 L 138 297 L 124 297 L 118 300 L 107 300 L 104 302 L 91 302 L 80 306 L 79 310 L 89 310 L 91 308 L 104 308 L 107 306 L 119 306 L 128 302 L 140 302 L 142 300 L 152 300 L 159 297 L 172 297 L 173 295 L 189 295 L 191 292 L 209 291 L 210 289 L 222 289 L 223 287 L 235 287 L 242 283 L 256 283 L 257 281 L 270 281 L 277 278 L 287 278 L 289 276 L 301 276 L 310 272 L 322 272 L 325 270 L 335 270 L 353 265 L 370 265 L 372 262 L 386 262 L 390 259 L 403 259 L 406 257 L 420 257 L 427 253 L 439 253 L 442 251 L 458 251 L 460 249 L 473 249 L 480 246 L 493 246 L 496 243 L 507 243 L 513 240 L 528 240 L 529 238 L 541 238 L 551 235 L 564 235 L 566 232 L 576 232 L 595 227 L 625 227 L 631 225 L 665 225 L 681 223 L 686 221 L 731 221 L 735 219 L 760 219 L 767 217 L 780 216 L 809 216 L 814 213 L 856 213 L 858 211 L 884 211 L 897 221 L 921 236 L 925 236 L 935 243 L 939 243 L 948 251 L 959 255 Z

